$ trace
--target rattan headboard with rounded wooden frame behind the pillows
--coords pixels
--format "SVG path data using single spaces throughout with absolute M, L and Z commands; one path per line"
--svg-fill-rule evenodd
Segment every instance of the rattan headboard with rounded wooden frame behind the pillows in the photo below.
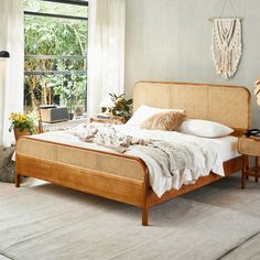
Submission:
M 248 129 L 251 121 L 251 95 L 246 87 L 139 82 L 133 88 L 133 110 L 141 105 L 184 109 L 188 118 Z

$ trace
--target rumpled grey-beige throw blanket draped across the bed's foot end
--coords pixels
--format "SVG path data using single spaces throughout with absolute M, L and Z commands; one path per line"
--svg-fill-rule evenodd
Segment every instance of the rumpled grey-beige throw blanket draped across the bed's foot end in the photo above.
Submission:
M 158 196 L 208 175 L 217 158 L 213 151 L 209 152 L 197 142 L 134 138 L 116 130 L 112 124 L 90 123 L 71 133 L 82 141 L 95 142 L 141 158 L 148 165 L 150 184 Z

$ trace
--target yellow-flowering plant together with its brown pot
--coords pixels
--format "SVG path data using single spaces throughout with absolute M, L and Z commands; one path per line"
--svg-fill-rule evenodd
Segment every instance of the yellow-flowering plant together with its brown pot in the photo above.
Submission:
M 9 120 L 11 120 L 9 131 L 11 132 L 13 129 L 17 141 L 22 136 L 29 136 L 35 132 L 35 117 L 33 115 L 12 112 Z

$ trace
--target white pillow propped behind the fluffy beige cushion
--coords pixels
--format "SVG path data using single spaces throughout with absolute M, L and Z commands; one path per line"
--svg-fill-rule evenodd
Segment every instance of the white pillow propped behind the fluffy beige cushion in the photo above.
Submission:
M 141 126 L 141 123 L 148 118 L 160 112 L 170 112 L 170 111 L 184 112 L 183 109 L 154 108 L 154 107 L 142 105 L 138 108 L 138 110 L 133 113 L 133 116 L 127 121 L 127 124 Z

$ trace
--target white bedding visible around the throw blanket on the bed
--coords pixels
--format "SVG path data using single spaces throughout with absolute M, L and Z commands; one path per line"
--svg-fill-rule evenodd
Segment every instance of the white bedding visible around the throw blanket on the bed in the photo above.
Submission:
M 117 124 L 115 127 L 123 134 L 128 134 L 138 139 L 155 139 L 163 141 L 174 140 L 175 142 L 185 141 L 191 144 L 195 142 L 203 149 L 205 149 L 210 154 L 210 156 L 214 158 L 210 170 L 220 176 L 224 176 L 223 162 L 239 155 L 237 151 L 237 138 L 231 136 L 207 139 L 175 131 L 145 130 L 140 129 L 139 127 L 127 124 Z M 84 131 L 84 128 L 77 127 L 76 130 L 73 129 L 68 131 L 46 132 L 43 134 L 32 136 L 32 138 L 115 152 L 113 150 L 98 145 L 96 143 L 80 141 L 76 136 L 73 134 L 75 131 Z M 194 180 L 194 175 L 191 174 L 191 171 L 186 170 L 169 177 L 164 174 L 161 174 L 160 165 L 151 156 L 134 149 L 130 149 L 126 152 L 126 154 L 139 156 L 145 162 L 150 174 L 150 185 L 159 197 L 161 197 L 166 191 L 171 188 L 178 189 L 183 184 L 194 183 L 194 181 L 198 177 L 196 176 L 196 178 Z M 201 176 L 208 175 L 209 171 L 207 173 L 201 174 Z

